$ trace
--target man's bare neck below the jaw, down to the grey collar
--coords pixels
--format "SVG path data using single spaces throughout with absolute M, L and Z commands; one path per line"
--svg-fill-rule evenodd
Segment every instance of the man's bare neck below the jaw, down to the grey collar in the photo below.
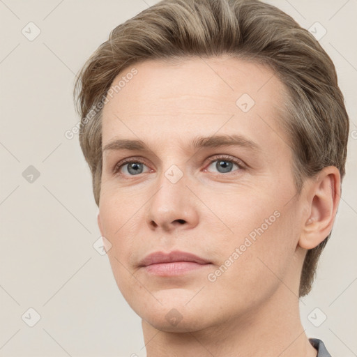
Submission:
M 225 324 L 174 333 L 142 320 L 142 328 L 147 357 L 317 356 L 301 325 L 298 298 L 284 284 L 264 305 Z

